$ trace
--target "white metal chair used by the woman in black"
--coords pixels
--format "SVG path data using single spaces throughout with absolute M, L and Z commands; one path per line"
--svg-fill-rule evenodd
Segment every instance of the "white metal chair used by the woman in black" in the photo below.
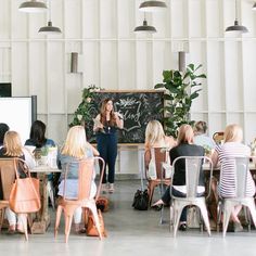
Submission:
M 171 183 L 174 180 L 174 175 L 177 170 L 177 162 L 184 161 L 185 165 L 185 187 L 187 187 L 187 194 L 185 197 L 177 197 L 171 194 L 170 189 L 170 196 L 171 196 L 171 205 L 170 205 L 170 226 L 174 226 L 174 236 L 176 238 L 179 220 L 181 216 L 181 212 L 187 206 L 197 206 L 201 210 L 205 227 L 207 229 L 208 235 L 210 235 L 210 227 L 209 227 L 209 219 L 208 219 L 208 213 L 206 208 L 206 199 L 210 195 L 210 183 L 212 183 L 212 177 L 213 177 L 213 163 L 212 159 L 207 156 L 180 156 L 177 157 L 172 163 L 172 177 L 171 177 Z M 207 196 L 205 195 L 197 196 L 197 185 L 200 181 L 200 174 L 203 168 L 203 163 L 209 164 L 209 188 Z

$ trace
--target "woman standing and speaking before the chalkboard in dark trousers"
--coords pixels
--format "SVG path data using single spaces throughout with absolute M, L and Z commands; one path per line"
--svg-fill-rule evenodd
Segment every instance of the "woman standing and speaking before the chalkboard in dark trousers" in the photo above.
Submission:
M 124 120 L 119 113 L 114 112 L 113 101 L 105 99 L 102 102 L 100 114 L 94 119 L 93 131 L 97 132 L 97 146 L 100 156 L 105 161 L 108 169 L 108 192 L 114 192 L 115 162 L 117 156 L 117 128 L 123 129 Z M 104 169 L 102 190 L 105 192 L 106 169 Z

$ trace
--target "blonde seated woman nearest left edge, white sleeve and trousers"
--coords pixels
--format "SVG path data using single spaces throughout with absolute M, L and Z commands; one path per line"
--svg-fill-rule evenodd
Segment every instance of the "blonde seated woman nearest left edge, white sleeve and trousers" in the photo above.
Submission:
M 16 131 L 8 131 L 5 133 L 3 148 L 0 149 L 0 157 L 17 157 L 24 159 L 29 168 L 34 168 L 36 165 L 33 155 L 22 145 L 20 135 Z M 14 233 L 16 229 L 18 232 L 24 232 L 22 226 L 23 215 L 18 214 L 16 216 L 9 207 L 5 214 L 9 221 L 9 232 Z

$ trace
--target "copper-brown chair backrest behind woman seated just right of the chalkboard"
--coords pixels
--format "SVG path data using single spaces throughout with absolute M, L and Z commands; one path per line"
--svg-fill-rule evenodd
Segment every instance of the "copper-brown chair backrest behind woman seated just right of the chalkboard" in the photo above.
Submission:
M 166 148 L 153 148 L 152 149 L 155 154 L 155 167 L 156 167 L 156 178 L 162 179 L 162 164 L 167 162 L 167 149 Z M 146 159 L 146 154 L 150 155 L 150 159 L 152 157 L 151 150 L 145 151 L 144 159 Z M 145 169 L 145 177 L 149 177 L 148 169 Z M 164 177 L 165 178 L 165 177 Z

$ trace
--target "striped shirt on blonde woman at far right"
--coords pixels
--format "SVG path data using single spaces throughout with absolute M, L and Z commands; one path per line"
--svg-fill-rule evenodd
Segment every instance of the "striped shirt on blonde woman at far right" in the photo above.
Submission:
M 231 157 L 249 156 L 251 150 L 247 145 L 239 142 L 226 142 L 223 145 L 217 145 L 218 159 L 221 165 L 219 194 L 221 197 L 235 196 L 234 161 Z M 230 158 L 229 158 L 230 157 Z M 249 171 L 249 170 L 248 170 Z M 247 176 L 246 195 L 255 194 L 255 183 L 251 172 Z

